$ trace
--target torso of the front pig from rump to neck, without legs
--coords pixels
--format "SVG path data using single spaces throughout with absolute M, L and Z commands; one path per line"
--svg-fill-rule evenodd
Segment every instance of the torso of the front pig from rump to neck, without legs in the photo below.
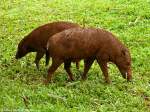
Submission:
M 48 42 L 51 55 L 86 58 L 97 52 L 110 54 L 121 43 L 112 33 L 95 28 L 72 28 L 52 36 Z

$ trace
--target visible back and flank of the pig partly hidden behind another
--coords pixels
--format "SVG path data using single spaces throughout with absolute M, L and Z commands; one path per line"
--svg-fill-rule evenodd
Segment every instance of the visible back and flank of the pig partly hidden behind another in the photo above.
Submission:
M 79 27 L 79 25 L 63 21 L 48 23 L 34 29 L 28 36 L 26 36 L 26 40 L 28 40 L 29 43 L 33 43 L 36 47 L 45 47 L 48 39 L 52 35 L 72 27 Z

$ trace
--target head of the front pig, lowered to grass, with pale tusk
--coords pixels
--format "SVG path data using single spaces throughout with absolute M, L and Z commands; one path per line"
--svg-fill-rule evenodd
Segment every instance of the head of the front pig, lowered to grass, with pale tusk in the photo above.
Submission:
M 123 78 L 130 81 L 132 78 L 130 53 L 128 49 L 123 48 L 119 54 L 120 55 L 116 57 L 116 65 L 121 72 Z

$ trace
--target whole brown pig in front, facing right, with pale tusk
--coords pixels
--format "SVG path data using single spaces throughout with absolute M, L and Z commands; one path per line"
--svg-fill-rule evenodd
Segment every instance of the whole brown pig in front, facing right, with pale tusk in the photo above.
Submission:
M 64 63 L 70 79 L 71 61 L 84 59 L 82 79 L 87 78 L 94 60 L 97 60 L 105 81 L 110 83 L 107 63 L 114 63 L 123 78 L 131 80 L 131 57 L 128 49 L 111 33 L 96 28 L 71 28 L 53 35 L 47 43 L 47 52 L 52 57 L 45 83 L 51 81 L 52 74 Z

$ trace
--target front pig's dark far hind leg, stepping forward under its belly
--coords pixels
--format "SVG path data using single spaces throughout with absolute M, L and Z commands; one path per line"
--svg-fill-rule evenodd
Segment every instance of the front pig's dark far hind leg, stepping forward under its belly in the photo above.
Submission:
M 69 61 L 69 60 L 65 61 L 64 68 L 65 68 L 66 72 L 68 73 L 69 80 L 74 81 L 73 74 L 70 70 L 70 66 L 71 66 L 71 61 Z

